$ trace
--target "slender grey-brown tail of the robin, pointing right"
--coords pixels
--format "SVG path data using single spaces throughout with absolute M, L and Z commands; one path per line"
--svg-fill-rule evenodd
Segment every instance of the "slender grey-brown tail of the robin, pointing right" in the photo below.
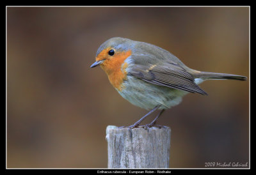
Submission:
M 200 79 L 213 79 L 213 80 L 247 80 L 247 77 L 241 76 L 241 75 L 234 75 L 234 74 L 228 74 L 228 73 L 214 73 L 214 72 L 199 72 L 196 71 L 193 73 L 195 77 Z

